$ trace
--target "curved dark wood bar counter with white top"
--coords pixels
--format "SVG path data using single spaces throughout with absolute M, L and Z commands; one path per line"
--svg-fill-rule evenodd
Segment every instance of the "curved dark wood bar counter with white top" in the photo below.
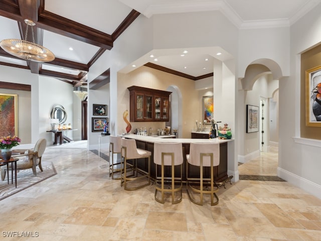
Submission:
M 226 180 L 231 180 L 231 177 L 228 177 L 227 174 L 227 156 L 228 156 L 228 150 L 227 150 L 227 143 L 234 141 L 231 140 L 223 140 L 223 139 L 183 139 L 183 138 L 171 138 L 169 136 L 159 136 L 159 137 L 151 137 L 151 136 L 140 136 L 140 135 L 134 135 L 134 134 L 125 134 L 125 135 L 119 135 L 123 138 L 128 139 L 134 139 L 136 140 L 137 148 L 147 150 L 151 152 L 150 157 L 150 177 L 155 178 L 156 176 L 156 167 L 153 163 L 153 150 L 154 150 L 154 143 L 182 143 L 183 145 L 183 181 L 186 181 L 186 154 L 190 153 L 190 144 L 191 143 L 219 143 L 220 144 L 220 164 L 217 167 L 214 167 L 214 181 L 215 182 L 225 182 Z M 175 136 L 173 136 L 175 137 Z M 145 159 L 145 161 L 140 160 L 137 162 L 137 165 L 142 170 L 147 170 L 147 161 L 148 159 Z M 166 173 L 170 173 L 170 168 L 166 167 Z M 196 166 L 189 167 L 189 177 L 199 177 L 200 176 L 200 168 Z M 158 172 L 158 170 L 157 170 Z M 175 169 L 175 176 L 178 176 L 180 173 L 180 167 L 176 167 Z M 204 177 L 209 177 L 210 175 L 210 168 L 206 168 L 204 173 Z

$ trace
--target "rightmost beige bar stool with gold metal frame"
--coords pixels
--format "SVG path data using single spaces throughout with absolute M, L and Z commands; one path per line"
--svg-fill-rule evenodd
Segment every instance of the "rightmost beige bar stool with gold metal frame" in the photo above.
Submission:
M 187 159 L 187 174 L 186 174 L 186 187 L 189 198 L 192 202 L 198 205 L 203 205 L 203 195 L 211 195 L 211 206 L 219 203 L 219 198 L 216 192 L 219 187 L 214 182 L 213 167 L 220 164 L 220 144 L 218 143 L 191 143 L 190 154 L 186 155 Z M 188 176 L 189 165 L 200 167 L 200 177 L 191 178 Z M 210 167 L 210 178 L 203 178 L 204 167 Z M 204 185 L 205 184 L 205 185 Z M 210 190 L 208 190 L 210 189 Z M 200 194 L 200 201 L 196 200 L 194 193 Z M 215 201 L 214 201 L 215 197 Z

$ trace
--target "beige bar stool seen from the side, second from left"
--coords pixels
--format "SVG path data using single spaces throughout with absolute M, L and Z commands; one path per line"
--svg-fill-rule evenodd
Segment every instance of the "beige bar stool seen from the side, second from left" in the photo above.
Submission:
M 123 164 L 123 171 L 120 176 L 120 186 L 124 184 L 124 189 L 131 191 L 131 190 L 137 190 L 139 188 L 148 186 L 150 184 L 150 156 L 151 152 L 145 151 L 142 149 L 137 148 L 136 141 L 133 139 L 121 139 L 121 156 L 124 158 L 124 164 Z M 141 160 L 143 158 L 143 160 Z M 137 167 L 137 160 L 140 159 L 140 161 L 145 161 L 145 158 L 148 158 L 148 172 L 139 169 Z M 132 160 L 132 163 L 129 163 L 128 160 Z M 139 161 L 139 160 L 138 160 Z M 130 174 L 132 172 L 132 174 Z M 142 178 L 148 178 L 147 183 L 143 183 L 140 185 L 136 185 L 134 187 L 128 187 L 127 182 L 131 182 L 134 180 L 139 180 Z

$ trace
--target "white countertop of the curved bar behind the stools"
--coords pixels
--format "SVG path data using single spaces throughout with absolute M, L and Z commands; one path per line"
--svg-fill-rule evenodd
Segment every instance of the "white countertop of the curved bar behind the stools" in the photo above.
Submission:
M 191 138 L 164 138 L 169 136 L 159 136 L 159 137 L 150 137 L 150 136 L 139 136 L 134 134 L 125 134 L 125 135 L 118 135 L 120 137 L 130 138 L 138 141 L 143 142 L 163 142 L 163 143 L 225 143 L 234 141 L 234 139 L 230 140 L 223 140 L 223 139 L 191 139 Z M 163 138 L 160 138 L 163 137 Z

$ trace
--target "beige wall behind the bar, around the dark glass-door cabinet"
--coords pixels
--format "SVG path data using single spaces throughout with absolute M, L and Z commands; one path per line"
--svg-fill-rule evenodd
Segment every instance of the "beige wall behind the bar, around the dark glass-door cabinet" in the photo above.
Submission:
M 195 128 L 195 120 L 200 118 L 200 98 L 199 92 L 195 90 L 195 81 L 145 66 L 128 74 L 117 74 L 117 134 L 125 133 L 126 123 L 123 121 L 122 114 L 126 109 L 129 111 L 129 90 L 127 87 L 132 85 L 161 90 L 167 90 L 169 86 L 176 85 L 182 93 L 182 138 L 191 138 L 191 130 Z M 127 119 L 129 121 L 129 115 Z M 147 130 L 151 127 L 153 132 L 156 132 L 159 128 L 165 128 L 165 122 L 131 123 L 131 126 L 131 133 L 135 128 L 140 127 L 146 127 Z

